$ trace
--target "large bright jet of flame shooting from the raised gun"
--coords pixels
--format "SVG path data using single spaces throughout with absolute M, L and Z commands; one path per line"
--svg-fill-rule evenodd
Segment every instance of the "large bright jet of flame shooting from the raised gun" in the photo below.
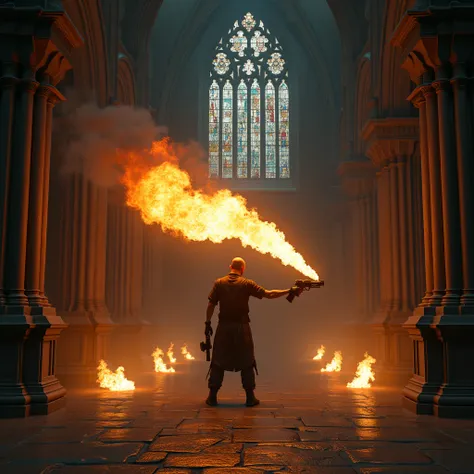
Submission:
M 243 247 L 270 254 L 313 280 L 318 274 L 286 241 L 273 222 L 260 219 L 247 201 L 224 189 L 208 193 L 192 187 L 189 174 L 179 168 L 169 139 L 154 142 L 152 159 L 158 166 L 144 166 L 133 154 L 125 159 L 121 178 L 127 191 L 127 205 L 140 211 L 146 224 L 159 224 L 164 232 L 187 240 L 222 243 L 239 239 Z

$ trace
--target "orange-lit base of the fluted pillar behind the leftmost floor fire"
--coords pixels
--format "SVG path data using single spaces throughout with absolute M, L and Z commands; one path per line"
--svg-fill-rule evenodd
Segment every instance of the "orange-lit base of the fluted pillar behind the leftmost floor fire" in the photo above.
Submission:
M 58 344 L 57 374 L 66 387 L 97 386 L 97 366 L 107 360 L 113 323 L 108 313 L 63 313 L 68 329 Z

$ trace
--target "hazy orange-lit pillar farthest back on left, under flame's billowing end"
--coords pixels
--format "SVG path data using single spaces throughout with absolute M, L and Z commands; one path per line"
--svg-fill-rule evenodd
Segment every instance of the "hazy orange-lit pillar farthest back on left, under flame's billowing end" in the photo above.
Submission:
M 109 192 L 107 225 L 106 302 L 115 323 L 110 356 L 117 364 L 137 365 L 142 352 L 144 224 L 126 206 L 122 189 Z

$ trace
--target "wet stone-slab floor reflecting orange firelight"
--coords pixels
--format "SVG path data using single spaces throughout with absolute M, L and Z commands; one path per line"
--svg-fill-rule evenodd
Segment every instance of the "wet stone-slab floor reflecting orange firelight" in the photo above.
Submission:
M 207 366 L 143 374 L 132 393 L 68 393 L 49 416 L 0 420 L 0 473 L 474 473 L 474 421 L 414 416 L 400 391 L 345 388 L 350 374 L 260 375 L 246 408 L 227 374 L 209 408 Z

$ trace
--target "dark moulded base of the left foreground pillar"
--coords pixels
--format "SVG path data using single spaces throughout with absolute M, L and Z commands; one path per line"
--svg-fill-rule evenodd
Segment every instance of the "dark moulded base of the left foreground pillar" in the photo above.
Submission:
M 55 375 L 64 321 L 53 307 L 3 307 L 0 314 L 0 418 L 62 408 L 66 389 Z

